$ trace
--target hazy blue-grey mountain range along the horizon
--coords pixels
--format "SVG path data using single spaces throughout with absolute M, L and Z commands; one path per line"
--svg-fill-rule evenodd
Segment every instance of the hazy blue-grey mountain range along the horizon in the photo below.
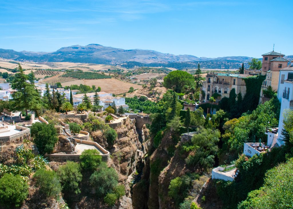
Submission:
M 110 65 L 137 65 L 137 66 L 166 66 L 174 63 L 183 63 L 184 66 L 195 65 L 196 63 L 211 63 L 211 68 L 238 68 L 239 63 L 251 61 L 251 57 L 229 56 L 229 57 L 196 57 L 193 55 L 173 55 L 161 53 L 153 50 L 143 49 L 118 49 L 100 44 L 89 44 L 87 46 L 67 46 L 54 52 L 32 52 L 14 51 L 10 49 L 0 49 L 0 58 L 13 59 L 15 61 L 33 62 L 77 62 L 77 63 L 96 63 Z M 293 56 L 288 56 L 293 59 Z M 196 62 L 196 63 L 195 63 Z M 218 63 L 214 65 L 215 63 Z M 225 65 L 228 64 L 228 66 Z M 230 64 L 229 64 L 230 63 Z M 231 65 L 231 63 L 235 63 Z M 197 64 L 196 64 L 197 65 Z M 209 68 L 209 66 L 206 66 Z M 180 68 L 180 67 L 179 67 Z

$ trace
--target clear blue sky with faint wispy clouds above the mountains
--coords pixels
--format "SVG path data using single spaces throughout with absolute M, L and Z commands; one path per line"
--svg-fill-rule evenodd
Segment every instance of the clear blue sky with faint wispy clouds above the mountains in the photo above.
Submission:
M 292 0 L 6 0 L 0 48 L 101 44 L 198 57 L 293 54 Z M 291 24 L 291 26 L 290 26 Z

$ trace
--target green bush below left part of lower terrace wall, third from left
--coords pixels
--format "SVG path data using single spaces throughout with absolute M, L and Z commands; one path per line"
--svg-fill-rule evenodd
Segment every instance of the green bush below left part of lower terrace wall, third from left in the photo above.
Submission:
M 67 161 L 65 165 L 59 167 L 57 173 L 64 191 L 74 191 L 75 194 L 80 193 L 79 183 L 82 180 L 80 170 L 80 165 L 71 161 Z

